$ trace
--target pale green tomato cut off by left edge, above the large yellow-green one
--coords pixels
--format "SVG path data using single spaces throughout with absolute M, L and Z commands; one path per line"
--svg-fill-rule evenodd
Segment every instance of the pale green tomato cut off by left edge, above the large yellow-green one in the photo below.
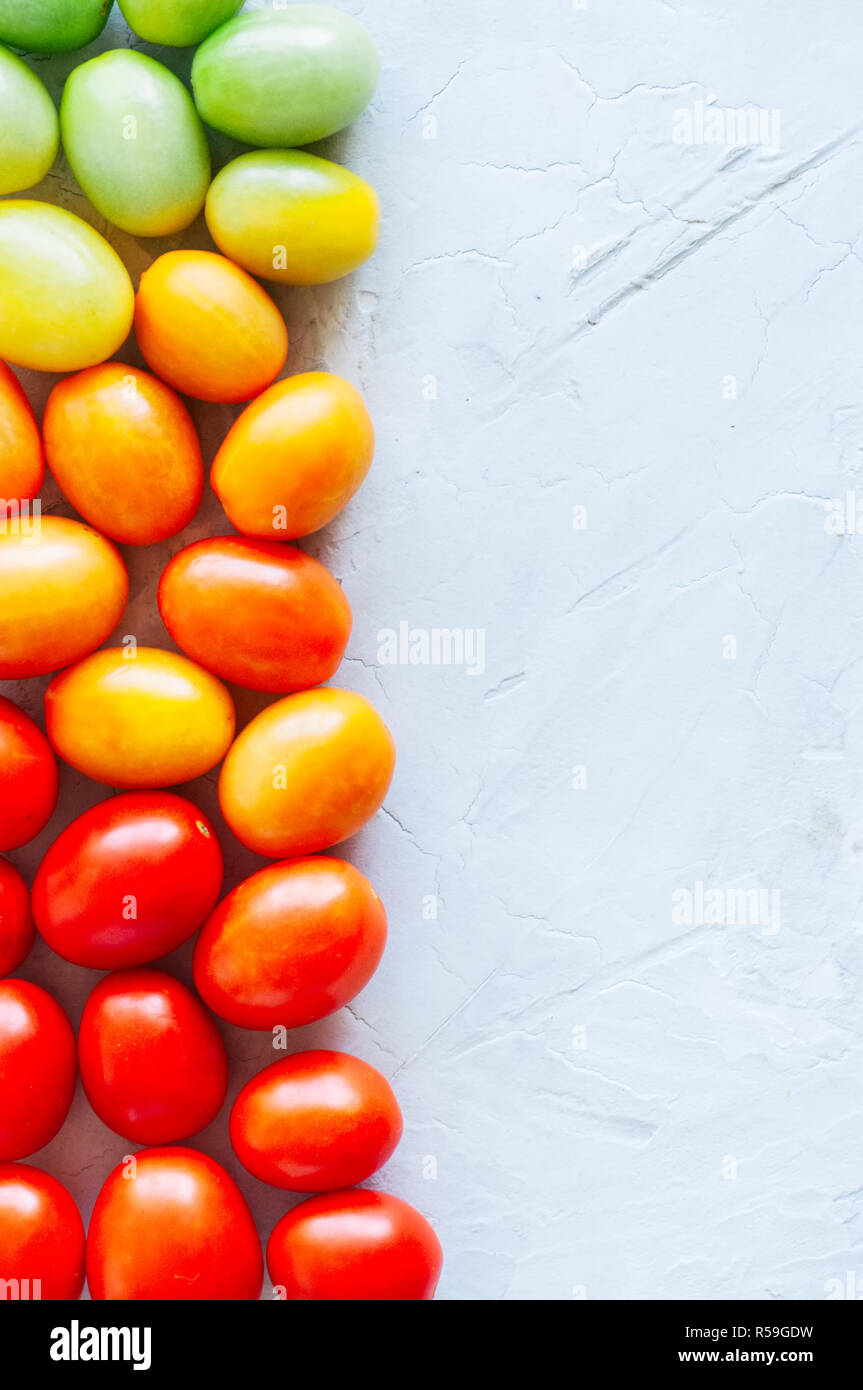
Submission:
M 57 157 L 60 124 L 47 88 L 0 49 L 0 193 L 40 183 Z

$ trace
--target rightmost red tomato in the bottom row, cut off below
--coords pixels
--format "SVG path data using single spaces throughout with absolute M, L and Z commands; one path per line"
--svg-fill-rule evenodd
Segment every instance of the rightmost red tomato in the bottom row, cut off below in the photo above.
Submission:
M 428 1301 L 442 1265 L 425 1216 L 363 1188 L 309 1197 L 282 1216 L 267 1245 L 270 1277 L 286 1301 Z

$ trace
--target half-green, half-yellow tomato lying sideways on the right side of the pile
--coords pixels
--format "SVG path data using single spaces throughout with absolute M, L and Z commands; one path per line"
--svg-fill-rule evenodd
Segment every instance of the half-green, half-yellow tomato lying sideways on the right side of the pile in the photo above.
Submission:
M 368 260 L 381 210 L 350 170 L 302 150 L 254 150 L 217 174 L 207 227 L 225 256 L 261 279 L 325 285 Z

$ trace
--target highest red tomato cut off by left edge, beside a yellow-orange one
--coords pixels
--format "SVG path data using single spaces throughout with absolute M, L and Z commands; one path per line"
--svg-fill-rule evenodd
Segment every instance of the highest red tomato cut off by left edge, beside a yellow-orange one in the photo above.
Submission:
M 0 849 L 38 835 L 57 805 L 57 759 L 33 720 L 0 696 Z

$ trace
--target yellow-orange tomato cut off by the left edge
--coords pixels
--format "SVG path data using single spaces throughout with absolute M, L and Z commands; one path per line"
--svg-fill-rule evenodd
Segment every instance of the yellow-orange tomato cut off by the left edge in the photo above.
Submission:
M 0 531 L 0 680 L 46 676 L 117 627 L 129 577 L 110 541 L 65 517 Z

